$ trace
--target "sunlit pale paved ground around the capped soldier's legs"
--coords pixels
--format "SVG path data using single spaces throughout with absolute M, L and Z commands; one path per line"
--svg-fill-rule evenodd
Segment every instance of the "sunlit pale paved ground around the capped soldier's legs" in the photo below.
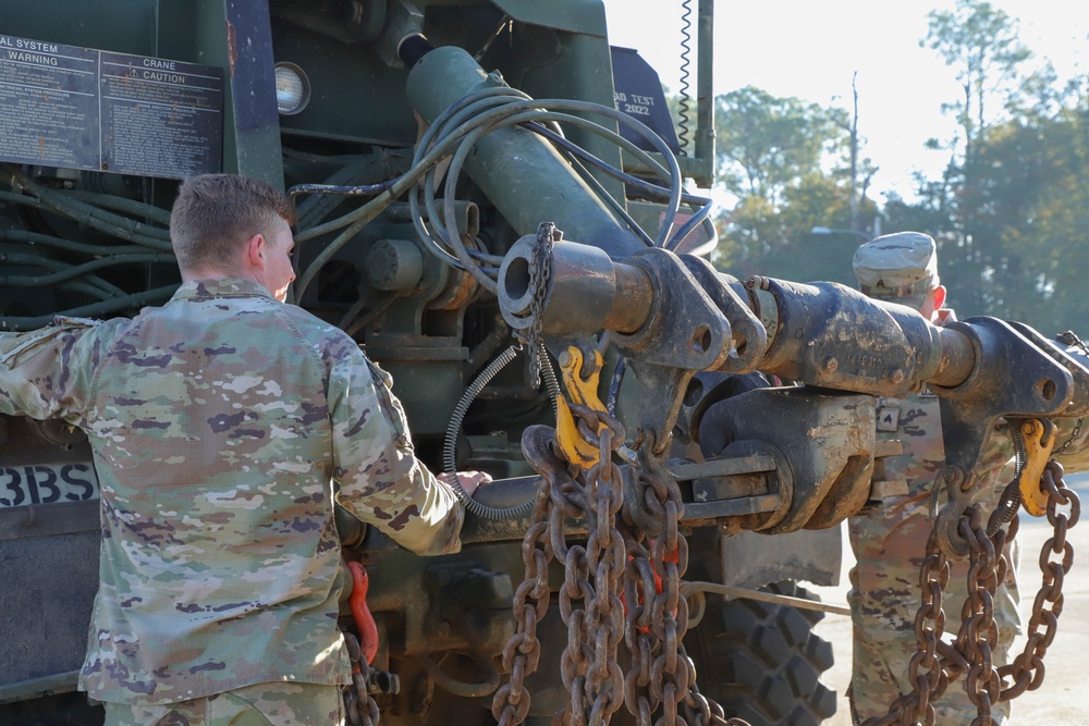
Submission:
M 1063 613 L 1059 632 L 1044 657 L 1045 676 L 1039 690 L 1029 691 L 1014 701 L 1010 726 L 1048 724 L 1049 726 L 1081 726 L 1089 724 L 1089 693 L 1086 684 L 1086 650 L 1089 648 L 1089 475 L 1067 477 L 1067 485 L 1079 495 L 1086 507 L 1085 517 L 1072 528 L 1067 540 L 1074 546 L 1074 565 L 1063 583 Z M 1028 624 L 1028 611 L 1040 587 L 1039 553 L 1049 537 L 1047 518 L 1033 519 L 1020 515 L 1021 542 L 1021 618 Z M 844 553 L 851 547 L 844 541 Z M 846 603 L 847 568 L 844 563 L 834 588 L 810 588 L 825 602 Z M 836 664 L 824 674 L 824 682 L 840 694 L 836 715 L 824 726 L 851 726 L 849 709 L 844 693 L 851 678 L 851 617 L 829 614 L 817 626 L 817 632 L 833 643 Z M 1015 647 L 1020 652 L 1024 640 Z M 942 726 L 942 725 L 939 725 Z

